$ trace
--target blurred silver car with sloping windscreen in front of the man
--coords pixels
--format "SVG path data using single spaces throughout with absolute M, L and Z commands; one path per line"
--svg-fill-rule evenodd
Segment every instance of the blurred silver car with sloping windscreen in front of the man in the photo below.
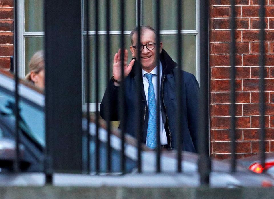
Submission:
M 13 76 L 0 70 L 0 186 L 44 185 L 43 173 L 45 160 L 45 98 L 43 91 L 32 84 L 19 82 L 19 159 L 21 173 L 14 173 L 15 159 L 15 83 Z M 83 114 L 84 115 L 84 114 Z M 106 123 L 100 120 L 99 134 L 99 169 L 96 171 L 96 124 L 95 117 L 90 118 L 87 137 L 83 136 L 82 163 L 83 174 L 53 174 L 54 184 L 60 186 L 200 186 L 198 172 L 199 155 L 182 152 L 182 173 L 177 173 L 177 152 L 162 151 L 161 170 L 156 174 L 156 151 L 146 145 L 141 146 L 142 173 L 138 173 L 138 142 L 130 135 L 125 135 L 125 172 L 121 170 L 121 132 L 112 129 L 110 132 L 111 173 L 108 173 Z M 82 130 L 87 131 L 87 119 L 82 119 Z M 83 133 L 86 135 L 87 133 Z M 88 146 L 90 151 L 87 151 Z M 88 155 L 90 162 L 88 162 Z M 210 185 L 212 187 L 248 187 L 273 186 L 274 179 L 265 174 L 256 174 L 243 166 L 237 167 L 237 172 L 230 172 L 230 164 L 212 159 Z M 90 171 L 87 171 L 90 167 Z

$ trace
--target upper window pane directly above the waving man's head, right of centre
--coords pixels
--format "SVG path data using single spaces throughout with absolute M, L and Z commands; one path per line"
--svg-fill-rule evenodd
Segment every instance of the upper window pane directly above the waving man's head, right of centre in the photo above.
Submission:
M 156 1 L 143 0 L 143 25 L 156 27 Z M 182 1 L 182 26 L 183 30 L 196 29 L 195 0 Z M 177 30 L 177 0 L 161 1 L 161 30 Z

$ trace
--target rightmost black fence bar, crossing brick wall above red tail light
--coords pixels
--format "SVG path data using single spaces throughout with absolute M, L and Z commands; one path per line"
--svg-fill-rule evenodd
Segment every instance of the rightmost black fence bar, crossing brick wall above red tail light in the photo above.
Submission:
M 264 79 L 264 68 L 265 68 L 265 49 L 264 49 L 264 40 L 265 40 L 265 8 L 264 8 L 264 0 L 260 0 L 260 57 L 259 57 L 259 65 L 260 65 L 260 80 L 259 80 L 259 90 L 260 90 L 260 152 L 261 152 L 261 165 L 265 168 L 265 79 Z M 263 169 L 264 171 L 264 169 Z

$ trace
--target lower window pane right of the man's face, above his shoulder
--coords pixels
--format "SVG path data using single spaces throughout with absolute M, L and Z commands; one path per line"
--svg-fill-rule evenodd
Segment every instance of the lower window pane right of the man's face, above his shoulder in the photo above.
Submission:
M 196 76 L 196 36 L 184 35 L 182 54 L 182 68 Z M 172 60 L 177 62 L 177 35 L 161 35 L 163 49 L 171 56 Z

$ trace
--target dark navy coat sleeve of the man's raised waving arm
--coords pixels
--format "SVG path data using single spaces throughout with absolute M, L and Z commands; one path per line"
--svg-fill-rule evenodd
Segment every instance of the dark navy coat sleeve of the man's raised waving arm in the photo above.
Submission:
M 109 94 L 109 97 L 108 97 Z M 118 95 L 119 95 L 119 87 L 114 86 L 113 81 L 110 80 L 108 82 L 108 86 L 106 88 L 106 91 L 104 93 L 104 97 L 102 99 L 101 105 L 100 105 L 100 116 L 106 120 L 109 115 L 110 121 L 118 121 Z M 109 98 L 109 99 L 108 99 Z M 108 106 L 109 105 L 109 106 Z M 109 110 L 108 110 L 109 107 Z

